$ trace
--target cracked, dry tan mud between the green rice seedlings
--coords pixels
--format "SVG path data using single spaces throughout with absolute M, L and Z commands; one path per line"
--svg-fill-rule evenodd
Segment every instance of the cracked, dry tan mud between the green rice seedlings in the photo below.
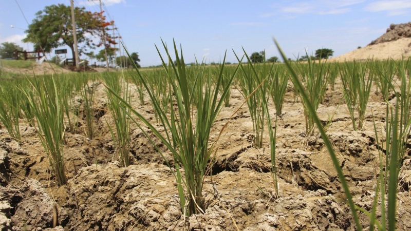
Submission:
M 88 140 L 80 112 L 77 132 L 66 132 L 66 186 L 55 183 L 34 128 L 22 124 L 23 143 L 0 130 L 0 227 L 2 230 L 354 230 L 354 223 L 337 173 L 317 132 L 306 137 L 303 106 L 286 94 L 277 122 L 275 195 L 269 172 L 270 147 L 250 142 L 252 122 L 241 93 L 233 87 L 230 107 L 222 108 L 211 141 L 218 140 L 212 175 L 204 181 L 204 213 L 182 216 L 172 171 L 138 128 L 133 128 L 133 164 L 120 167 L 106 120 L 105 93 L 97 86 L 96 138 Z M 353 131 L 341 89 L 328 89 L 318 113 L 343 167 L 354 202 L 370 210 L 378 147 L 373 117 L 383 126 L 385 103 L 373 90 L 363 131 Z M 156 123 L 148 98 L 132 104 Z M 393 99 L 395 100 L 395 98 Z M 81 108 L 81 102 L 79 101 Z M 271 103 L 271 113 L 275 109 Z M 373 113 L 373 117 L 371 115 Z M 231 118 L 231 119 L 230 119 Z M 148 132 L 150 136 L 152 133 Z M 160 148 L 165 151 L 165 148 Z M 167 159 L 172 160 L 165 152 Z M 410 161 L 404 158 L 398 186 L 397 229 L 411 229 Z M 380 213 L 380 212 L 378 212 Z M 57 227 L 53 227 L 53 217 Z M 363 227 L 368 218 L 360 214 Z

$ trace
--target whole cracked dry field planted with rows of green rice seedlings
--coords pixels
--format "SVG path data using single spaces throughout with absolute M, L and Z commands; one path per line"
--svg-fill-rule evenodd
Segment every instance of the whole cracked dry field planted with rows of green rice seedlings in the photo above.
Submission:
M 3 227 L 411 229 L 411 61 L 242 59 L 2 80 Z

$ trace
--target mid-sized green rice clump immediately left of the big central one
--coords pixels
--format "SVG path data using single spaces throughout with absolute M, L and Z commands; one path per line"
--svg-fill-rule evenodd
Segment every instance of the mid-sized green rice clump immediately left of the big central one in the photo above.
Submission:
M 115 152 L 117 153 L 120 165 L 127 167 L 130 165 L 130 109 L 123 105 L 124 103 L 118 100 L 114 94 L 121 95 L 121 98 L 125 101 L 125 103 L 130 105 L 131 93 L 128 87 L 128 81 L 122 81 L 122 83 L 120 83 L 120 78 L 118 78 L 118 76 L 109 74 L 105 74 L 103 79 L 107 87 L 107 106 L 116 126 L 116 132 L 110 127 L 108 121 L 106 122 L 116 146 Z

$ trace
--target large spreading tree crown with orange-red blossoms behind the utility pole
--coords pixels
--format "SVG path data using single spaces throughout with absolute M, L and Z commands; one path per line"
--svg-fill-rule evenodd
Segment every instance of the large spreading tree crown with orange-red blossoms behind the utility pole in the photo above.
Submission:
M 79 44 L 79 55 L 87 48 L 103 45 L 92 43 L 92 36 L 100 36 L 102 31 L 108 30 L 110 22 L 105 22 L 105 17 L 100 13 L 85 11 L 85 8 L 74 8 L 76 18 L 77 42 Z M 39 11 L 25 32 L 27 37 L 23 42 L 34 43 L 35 50 L 44 50 L 49 53 L 51 49 L 67 45 L 74 57 L 74 40 L 72 35 L 71 9 L 63 4 L 46 6 Z M 91 35 L 91 36 L 89 36 Z M 106 33 L 109 44 L 116 44 L 113 38 Z M 105 44 L 107 46 L 107 44 Z M 41 49 L 42 48 L 42 49 Z

